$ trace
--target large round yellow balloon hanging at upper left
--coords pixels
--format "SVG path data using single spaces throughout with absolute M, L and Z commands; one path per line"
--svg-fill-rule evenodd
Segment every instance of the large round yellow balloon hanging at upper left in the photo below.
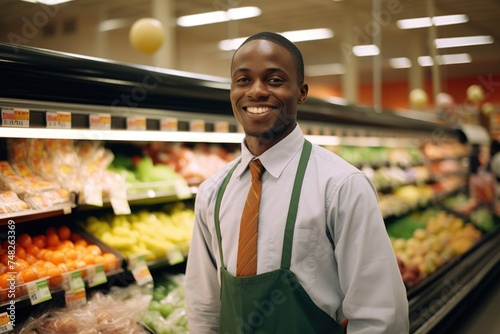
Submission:
M 145 54 L 156 52 L 163 44 L 163 25 L 160 21 L 152 18 L 137 20 L 129 32 L 130 44 Z

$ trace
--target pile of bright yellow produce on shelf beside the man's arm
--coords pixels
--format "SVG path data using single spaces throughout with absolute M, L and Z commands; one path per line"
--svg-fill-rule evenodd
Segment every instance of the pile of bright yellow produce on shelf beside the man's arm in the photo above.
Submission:
M 193 210 L 181 202 L 165 212 L 143 210 L 123 216 L 90 216 L 82 223 L 87 231 L 123 255 L 145 254 L 146 260 L 167 258 L 179 249 L 186 252 L 193 225 Z

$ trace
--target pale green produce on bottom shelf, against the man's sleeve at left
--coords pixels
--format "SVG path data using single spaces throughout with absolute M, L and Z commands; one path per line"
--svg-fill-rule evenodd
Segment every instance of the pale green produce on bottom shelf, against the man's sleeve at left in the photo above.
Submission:
M 157 334 L 185 334 L 188 321 L 185 309 L 184 274 L 167 275 L 155 283 L 153 299 L 143 312 L 143 324 Z

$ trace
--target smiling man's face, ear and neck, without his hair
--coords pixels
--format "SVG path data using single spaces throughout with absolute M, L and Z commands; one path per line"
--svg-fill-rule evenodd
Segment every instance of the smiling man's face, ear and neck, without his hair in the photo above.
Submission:
M 267 40 L 253 40 L 236 51 L 231 64 L 231 106 L 245 131 L 245 143 L 259 156 L 293 131 L 297 106 L 308 85 L 299 83 L 291 54 Z

